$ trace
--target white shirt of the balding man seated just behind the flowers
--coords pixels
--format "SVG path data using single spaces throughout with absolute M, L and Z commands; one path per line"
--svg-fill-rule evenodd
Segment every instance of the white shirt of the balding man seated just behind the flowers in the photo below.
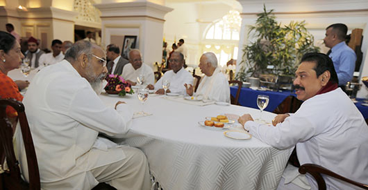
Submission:
M 144 75 L 144 85 L 155 83 L 155 75 L 153 74 L 152 68 L 144 63 L 137 70 L 133 68 L 131 63 L 126 64 L 123 68 L 122 77 L 126 80 L 137 82 L 137 77 L 140 74 Z

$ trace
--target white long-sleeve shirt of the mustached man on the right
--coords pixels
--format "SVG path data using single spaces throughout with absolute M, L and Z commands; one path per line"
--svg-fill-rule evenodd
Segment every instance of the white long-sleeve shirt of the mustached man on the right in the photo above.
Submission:
M 276 126 L 251 121 L 244 126 L 277 149 L 296 144 L 300 164 L 318 164 L 368 184 L 368 126 L 341 88 L 307 99 L 296 113 Z M 317 189 L 315 180 L 310 175 L 307 178 L 312 189 Z M 333 178 L 325 180 L 327 189 L 354 189 Z

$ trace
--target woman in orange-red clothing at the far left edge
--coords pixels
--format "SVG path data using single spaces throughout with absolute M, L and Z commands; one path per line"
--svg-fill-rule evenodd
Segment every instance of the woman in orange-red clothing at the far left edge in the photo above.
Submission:
M 20 45 L 15 37 L 8 32 L 0 31 L 0 97 L 14 98 L 22 101 L 23 96 L 19 93 L 17 84 L 15 84 L 8 72 L 15 68 L 19 68 L 22 64 L 24 55 L 20 50 Z M 14 124 L 17 112 L 13 108 L 6 108 L 6 114 L 10 117 Z

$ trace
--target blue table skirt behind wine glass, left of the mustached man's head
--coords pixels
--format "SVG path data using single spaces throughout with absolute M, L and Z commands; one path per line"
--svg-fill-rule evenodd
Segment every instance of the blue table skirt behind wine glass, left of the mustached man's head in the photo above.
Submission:
M 230 87 L 230 93 L 233 95 L 233 97 L 236 97 L 237 93 L 237 86 L 231 86 Z M 269 102 L 268 106 L 265 108 L 265 111 L 274 111 L 278 105 L 281 104 L 281 102 L 284 101 L 284 99 L 290 95 L 295 96 L 294 93 L 291 93 L 290 91 L 285 92 L 274 92 L 274 91 L 255 91 L 251 88 L 242 88 L 239 95 L 239 104 L 242 106 L 246 106 L 249 108 L 257 108 L 257 96 L 258 95 L 268 95 L 269 96 Z

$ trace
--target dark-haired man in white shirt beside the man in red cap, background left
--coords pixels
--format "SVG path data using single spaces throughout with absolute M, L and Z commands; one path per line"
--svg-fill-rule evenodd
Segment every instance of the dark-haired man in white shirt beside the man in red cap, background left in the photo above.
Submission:
M 64 54 L 61 52 L 62 42 L 59 39 L 54 39 L 51 42 L 51 53 L 41 55 L 38 63 L 39 66 L 49 66 L 58 63 L 64 59 Z

